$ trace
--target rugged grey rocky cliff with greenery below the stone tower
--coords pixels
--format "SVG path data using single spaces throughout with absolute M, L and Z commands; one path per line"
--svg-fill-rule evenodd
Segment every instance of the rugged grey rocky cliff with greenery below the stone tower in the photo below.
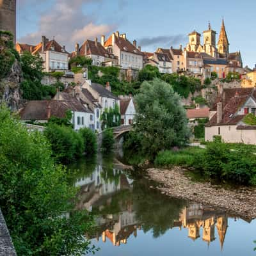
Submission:
M 22 106 L 20 81 L 22 78 L 19 56 L 12 44 L 12 35 L 0 31 L 0 104 L 12 111 Z

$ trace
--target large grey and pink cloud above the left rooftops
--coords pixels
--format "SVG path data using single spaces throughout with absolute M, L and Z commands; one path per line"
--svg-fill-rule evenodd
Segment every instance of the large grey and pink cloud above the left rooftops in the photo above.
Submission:
M 23 3 L 26 0 L 23 0 Z M 116 28 L 115 24 L 97 24 L 97 19 L 83 13 L 86 4 L 97 4 L 102 0 L 54 0 L 51 10 L 47 9 L 40 15 L 38 30 L 22 36 L 19 41 L 38 44 L 41 36 L 49 39 L 53 36 L 60 44 L 73 51 L 76 42 L 83 42 L 102 34 L 106 35 Z M 88 7 L 89 9 L 90 7 Z

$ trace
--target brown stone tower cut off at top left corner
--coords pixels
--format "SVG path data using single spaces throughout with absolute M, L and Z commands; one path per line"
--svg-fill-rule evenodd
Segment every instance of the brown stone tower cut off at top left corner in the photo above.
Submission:
M 16 42 L 16 0 L 0 0 L 0 30 L 11 31 Z

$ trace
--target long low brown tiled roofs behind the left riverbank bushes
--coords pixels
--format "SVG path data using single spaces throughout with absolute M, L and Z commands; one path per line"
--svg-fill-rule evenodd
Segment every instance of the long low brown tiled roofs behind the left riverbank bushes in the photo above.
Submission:
M 79 102 L 80 103 L 80 102 Z M 47 120 L 47 111 L 51 108 L 51 115 L 64 118 L 67 110 L 87 112 L 82 104 L 74 104 L 65 100 L 31 100 L 20 111 L 21 120 Z

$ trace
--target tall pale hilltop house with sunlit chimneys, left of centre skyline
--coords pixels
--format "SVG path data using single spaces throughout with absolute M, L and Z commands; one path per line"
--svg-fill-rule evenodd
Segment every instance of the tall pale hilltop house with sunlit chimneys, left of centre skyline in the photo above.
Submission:
M 104 45 L 108 52 L 111 52 L 118 58 L 118 65 L 121 68 L 137 69 L 143 68 L 143 53 L 140 47 L 137 48 L 136 40 L 133 44 L 126 38 L 126 34 L 120 35 L 118 31 L 109 36 L 105 42 L 105 36 L 101 37 L 101 44 Z

